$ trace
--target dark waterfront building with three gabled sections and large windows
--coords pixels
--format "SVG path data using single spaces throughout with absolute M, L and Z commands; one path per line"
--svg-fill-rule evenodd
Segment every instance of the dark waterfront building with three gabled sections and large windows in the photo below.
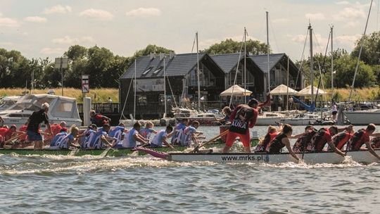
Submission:
M 219 94 L 233 84 L 241 86 L 245 84 L 246 89 L 253 92 L 252 96 L 260 100 L 264 99 L 267 92 L 267 68 L 265 68 L 267 55 L 247 55 L 244 58 L 239 53 L 213 56 L 208 53 L 199 53 L 198 58 L 201 108 L 224 106 L 227 100 L 221 99 Z M 285 53 L 270 54 L 271 88 L 286 84 L 287 62 L 288 56 Z M 245 73 L 244 65 L 246 65 Z M 237 74 L 236 67 L 239 68 Z M 296 65 L 289 60 L 289 85 L 300 89 L 302 81 L 300 81 L 300 75 L 296 81 L 297 74 Z M 122 114 L 133 114 L 136 109 L 137 118 L 160 118 L 165 112 L 165 99 L 168 106 L 167 115 L 170 115 L 172 106 L 197 106 L 197 75 L 196 53 L 170 53 L 168 56 L 160 53 L 137 58 L 136 63 L 133 63 L 120 77 Z M 135 83 L 134 79 L 136 79 Z M 136 107 L 134 107 L 134 84 L 137 89 Z M 235 101 L 241 102 L 241 100 Z

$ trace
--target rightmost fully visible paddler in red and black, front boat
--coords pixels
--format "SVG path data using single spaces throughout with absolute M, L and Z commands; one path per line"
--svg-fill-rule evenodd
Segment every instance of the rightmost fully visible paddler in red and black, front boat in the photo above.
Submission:
M 372 149 L 371 143 L 369 141 L 369 136 L 380 137 L 380 133 L 374 133 L 376 126 L 374 124 L 367 125 L 367 128 L 357 130 L 353 137 L 348 141 L 348 151 L 360 151 L 365 150 L 362 146 L 365 144 L 369 153 L 372 153 L 373 156 L 380 159 L 380 156 L 376 154 L 374 149 Z

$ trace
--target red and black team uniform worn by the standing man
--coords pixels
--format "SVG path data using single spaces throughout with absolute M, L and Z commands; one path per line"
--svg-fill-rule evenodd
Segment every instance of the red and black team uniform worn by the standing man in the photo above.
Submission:
M 255 126 L 258 110 L 246 105 L 237 106 L 230 116 L 231 125 L 227 134 L 226 146 L 231 147 L 239 137 L 245 147 L 250 146 L 249 128 Z

